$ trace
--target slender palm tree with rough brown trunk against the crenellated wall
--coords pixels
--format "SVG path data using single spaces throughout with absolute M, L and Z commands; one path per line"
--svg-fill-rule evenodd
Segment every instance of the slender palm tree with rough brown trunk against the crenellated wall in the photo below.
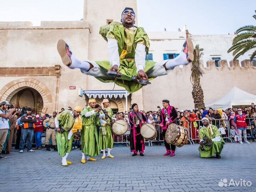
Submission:
M 194 99 L 195 108 L 204 108 L 204 95 L 201 87 L 200 78 L 203 76 L 204 71 L 200 68 L 200 59 L 203 55 L 203 49 L 199 48 L 199 44 L 194 48 L 194 60 L 191 67 L 190 81 L 193 85 L 192 97 Z

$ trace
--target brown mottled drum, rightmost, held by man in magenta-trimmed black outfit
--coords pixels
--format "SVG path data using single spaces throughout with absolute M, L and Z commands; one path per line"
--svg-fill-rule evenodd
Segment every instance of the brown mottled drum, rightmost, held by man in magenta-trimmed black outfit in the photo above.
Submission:
M 188 139 L 188 129 L 186 127 L 178 126 L 171 123 L 166 130 L 165 140 L 169 144 L 176 145 L 177 147 L 182 147 L 187 143 Z

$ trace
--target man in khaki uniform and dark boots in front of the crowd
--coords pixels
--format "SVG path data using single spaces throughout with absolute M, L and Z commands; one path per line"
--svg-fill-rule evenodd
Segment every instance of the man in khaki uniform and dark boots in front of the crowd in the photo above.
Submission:
M 54 151 L 58 151 L 56 146 L 56 137 L 55 137 L 55 117 L 56 116 L 57 116 L 57 112 L 54 111 L 52 117 L 48 117 L 43 121 L 43 126 L 46 127 L 46 150 L 47 151 L 51 151 L 49 148 L 50 137 L 52 137 L 52 144 L 53 144 Z M 48 126 L 47 126 L 47 123 L 48 123 Z

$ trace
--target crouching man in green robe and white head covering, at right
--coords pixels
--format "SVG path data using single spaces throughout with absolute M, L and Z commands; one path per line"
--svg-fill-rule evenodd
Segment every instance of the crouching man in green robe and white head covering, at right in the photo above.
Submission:
M 200 139 L 200 157 L 209 158 L 216 154 L 216 158 L 220 159 L 220 153 L 222 152 L 225 142 L 222 139 L 218 128 L 209 124 L 208 118 L 202 118 L 202 123 L 203 127 L 199 129 L 198 133 Z

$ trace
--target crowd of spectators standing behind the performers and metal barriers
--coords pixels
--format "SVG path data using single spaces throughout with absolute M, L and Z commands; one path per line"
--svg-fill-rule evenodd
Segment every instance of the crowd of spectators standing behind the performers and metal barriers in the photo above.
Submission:
M 5 159 L 3 154 L 9 154 L 12 150 L 12 143 L 15 144 L 15 149 L 18 149 L 20 153 L 23 153 L 25 143 L 27 143 L 27 151 L 34 152 L 34 150 L 41 150 L 45 148 L 47 151 L 57 151 L 56 138 L 55 138 L 55 117 L 57 113 L 63 112 L 62 108 L 60 112 L 53 112 L 53 114 L 44 114 L 43 116 L 34 115 L 31 108 L 26 111 L 18 111 L 18 109 L 12 106 L 7 101 L 1 102 L 0 105 L 0 159 Z M 71 107 L 68 110 L 72 111 Z M 177 118 L 174 123 L 177 125 L 186 127 L 190 132 L 191 142 L 199 143 L 198 131 L 203 126 L 201 119 L 206 117 L 209 119 L 210 124 L 213 124 L 219 128 L 219 132 L 225 141 L 233 139 L 237 143 L 242 143 L 241 136 L 244 137 L 244 142 L 254 142 L 256 135 L 256 108 L 254 103 L 251 106 L 244 108 L 228 108 L 222 110 L 220 108 L 201 108 L 194 110 L 178 110 Z M 128 125 L 127 133 L 130 132 L 129 113 L 119 112 L 115 114 L 117 120 L 123 120 Z M 157 131 L 157 137 L 153 141 L 156 145 L 162 145 L 164 135 L 160 126 L 160 111 L 143 111 L 144 116 L 147 119 L 147 123 L 154 124 Z M 244 130 L 237 127 L 236 118 L 237 114 L 242 114 L 246 117 L 246 128 Z M 24 128 L 26 126 L 26 128 Z M 97 127 L 99 134 L 100 127 Z M 42 135 L 44 134 L 44 137 Z M 246 139 L 247 138 L 247 139 Z M 129 146 L 129 134 L 123 135 L 123 137 L 114 136 L 114 142 L 121 142 Z M 32 143 L 34 149 L 32 149 Z M 80 147 L 80 133 L 76 133 L 72 149 L 81 149 Z

